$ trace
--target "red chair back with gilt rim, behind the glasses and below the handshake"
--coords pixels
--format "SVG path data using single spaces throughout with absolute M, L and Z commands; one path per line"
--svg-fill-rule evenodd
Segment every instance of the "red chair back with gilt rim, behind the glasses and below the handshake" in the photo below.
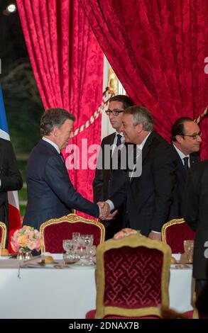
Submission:
M 62 218 L 54 218 L 40 225 L 40 235 L 43 238 L 42 252 L 62 253 L 63 239 L 71 239 L 73 232 L 94 235 L 94 245 L 104 242 L 104 225 L 96 220 L 82 218 L 75 214 L 68 214 Z

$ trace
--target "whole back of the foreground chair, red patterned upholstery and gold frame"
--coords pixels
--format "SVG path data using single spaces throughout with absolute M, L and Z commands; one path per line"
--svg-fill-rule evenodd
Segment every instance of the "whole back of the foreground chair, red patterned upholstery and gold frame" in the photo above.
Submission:
M 141 235 L 97 247 L 96 318 L 160 316 L 168 307 L 170 247 Z

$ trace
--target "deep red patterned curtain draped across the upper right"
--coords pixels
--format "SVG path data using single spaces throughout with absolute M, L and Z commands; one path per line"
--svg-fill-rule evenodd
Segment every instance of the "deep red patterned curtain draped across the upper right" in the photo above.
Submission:
M 116 75 L 135 103 L 152 111 L 170 140 L 177 118 L 197 118 L 208 105 L 207 0 L 80 0 Z M 208 158 L 202 120 L 202 159 Z

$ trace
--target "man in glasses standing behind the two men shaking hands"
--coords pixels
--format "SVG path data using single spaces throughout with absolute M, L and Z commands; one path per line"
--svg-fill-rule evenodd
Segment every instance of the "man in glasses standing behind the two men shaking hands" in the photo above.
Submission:
M 101 154 L 102 154 L 102 169 L 96 169 L 94 181 L 93 181 L 93 192 L 94 192 L 94 203 L 98 201 L 106 201 L 109 196 L 112 196 L 121 186 L 124 186 L 126 181 L 126 172 L 123 169 L 116 168 L 111 164 L 109 169 L 104 166 L 106 156 L 104 154 L 104 147 L 106 145 L 113 145 L 111 155 L 114 154 L 114 147 L 122 149 L 124 146 L 124 134 L 121 132 L 122 117 L 124 110 L 128 106 L 133 106 L 133 101 L 126 95 L 116 95 L 110 98 L 109 108 L 106 110 L 106 115 L 109 117 L 112 128 L 116 132 L 104 137 L 101 143 Z M 121 151 L 121 150 L 120 150 Z M 119 154 L 118 154 L 119 159 Z M 119 161 L 118 162 L 119 165 Z M 123 212 L 120 208 L 119 213 L 115 213 L 114 220 L 103 221 L 106 228 L 106 239 L 114 236 L 123 226 Z

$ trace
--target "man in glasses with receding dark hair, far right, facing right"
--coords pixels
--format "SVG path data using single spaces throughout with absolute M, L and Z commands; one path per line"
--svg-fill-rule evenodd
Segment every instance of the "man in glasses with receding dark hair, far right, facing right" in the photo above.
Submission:
M 182 196 L 187 179 L 187 171 L 192 164 L 199 162 L 200 144 L 202 142 L 202 132 L 199 126 L 191 118 L 182 117 L 175 121 L 171 129 L 171 142 L 173 151 L 177 157 L 177 205 L 178 215 L 182 217 Z

